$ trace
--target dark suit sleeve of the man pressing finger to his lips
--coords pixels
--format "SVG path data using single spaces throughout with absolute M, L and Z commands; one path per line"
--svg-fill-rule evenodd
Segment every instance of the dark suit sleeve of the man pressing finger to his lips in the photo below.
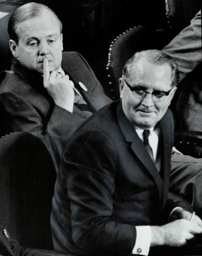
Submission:
M 54 106 L 49 119 L 45 120 L 40 111 L 30 104 L 26 98 L 11 92 L 1 93 L 0 102 L 4 109 L 2 111 L 2 135 L 22 130 L 36 136 L 48 135 L 53 140 L 53 151 L 57 151 L 57 155 L 60 156 L 67 140 L 77 127 L 85 121 L 84 117 L 70 113 L 57 105 Z

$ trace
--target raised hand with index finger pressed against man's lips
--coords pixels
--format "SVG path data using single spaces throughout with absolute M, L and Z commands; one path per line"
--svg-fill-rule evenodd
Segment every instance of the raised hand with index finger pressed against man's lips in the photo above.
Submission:
M 56 71 L 49 72 L 48 59 L 43 60 L 43 85 L 53 98 L 57 106 L 73 112 L 74 107 L 74 83 L 68 75 L 62 75 Z

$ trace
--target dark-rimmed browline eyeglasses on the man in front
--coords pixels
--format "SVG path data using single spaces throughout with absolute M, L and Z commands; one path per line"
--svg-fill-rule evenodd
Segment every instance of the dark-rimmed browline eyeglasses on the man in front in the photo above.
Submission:
M 124 82 L 126 83 L 128 88 L 131 90 L 133 96 L 140 100 L 143 100 L 146 97 L 146 95 L 151 94 L 153 101 L 155 101 L 155 102 L 164 101 L 164 100 L 166 100 L 166 96 L 168 96 L 172 90 L 172 88 L 167 92 L 155 90 L 150 93 L 150 92 L 143 90 L 143 88 L 141 88 L 141 87 L 132 87 L 131 85 L 129 85 L 129 83 L 125 79 L 124 79 Z

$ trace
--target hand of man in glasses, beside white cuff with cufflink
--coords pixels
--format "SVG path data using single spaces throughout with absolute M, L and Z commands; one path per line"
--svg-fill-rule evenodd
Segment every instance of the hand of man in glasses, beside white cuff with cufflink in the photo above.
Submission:
M 202 227 L 195 221 L 176 220 L 164 226 L 151 226 L 151 246 L 169 245 L 180 247 L 201 234 Z

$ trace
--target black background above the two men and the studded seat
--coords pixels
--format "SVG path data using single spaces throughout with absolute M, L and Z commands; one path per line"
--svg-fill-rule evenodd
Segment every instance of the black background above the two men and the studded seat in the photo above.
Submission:
M 31 1 L 0 0 L 0 12 L 12 12 Z M 107 92 L 107 54 L 111 41 L 128 28 L 150 25 L 169 30 L 173 35 L 190 23 L 200 9 L 200 0 L 36 0 L 48 5 L 63 24 L 64 50 L 81 53 L 95 71 Z M 1 66 L 9 63 L 6 23 L 9 15 L 0 19 Z M 3 62 L 2 62 L 3 61 Z

